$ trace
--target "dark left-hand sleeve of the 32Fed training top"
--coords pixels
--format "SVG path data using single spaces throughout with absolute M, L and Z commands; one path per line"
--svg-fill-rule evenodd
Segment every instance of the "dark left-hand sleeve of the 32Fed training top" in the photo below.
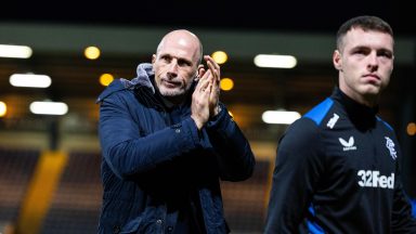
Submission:
M 298 233 L 324 171 L 318 129 L 310 119 L 294 122 L 276 152 L 264 233 Z

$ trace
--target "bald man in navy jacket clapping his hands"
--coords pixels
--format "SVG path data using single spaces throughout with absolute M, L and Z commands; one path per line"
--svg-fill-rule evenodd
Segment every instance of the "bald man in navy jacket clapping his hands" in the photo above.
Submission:
M 204 58 L 208 69 L 194 34 L 171 31 L 136 78 L 100 95 L 99 233 L 229 233 L 219 180 L 248 179 L 255 157 Z

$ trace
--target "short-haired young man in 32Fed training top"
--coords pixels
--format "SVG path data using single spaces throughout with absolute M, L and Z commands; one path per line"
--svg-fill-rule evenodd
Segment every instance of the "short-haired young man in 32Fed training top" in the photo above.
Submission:
M 281 139 L 265 233 L 416 233 L 399 142 L 376 116 L 393 46 L 391 27 L 375 16 L 339 28 L 339 87 Z

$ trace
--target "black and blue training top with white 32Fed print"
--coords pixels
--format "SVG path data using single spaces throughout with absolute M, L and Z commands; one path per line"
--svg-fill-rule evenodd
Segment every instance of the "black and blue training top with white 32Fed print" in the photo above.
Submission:
M 282 136 L 264 233 L 416 233 L 393 129 L 338 88 Z

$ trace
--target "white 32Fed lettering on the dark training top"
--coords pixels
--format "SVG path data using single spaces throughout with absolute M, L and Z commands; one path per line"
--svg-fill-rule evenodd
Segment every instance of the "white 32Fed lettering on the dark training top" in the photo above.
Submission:
M 394 187 L 394 173 L 387 177 L 380 176 L 380 171 L 359 170 L 356 176 L 360 177 L 359 185 L 362 187 L 381 187 L 391 190 Z

